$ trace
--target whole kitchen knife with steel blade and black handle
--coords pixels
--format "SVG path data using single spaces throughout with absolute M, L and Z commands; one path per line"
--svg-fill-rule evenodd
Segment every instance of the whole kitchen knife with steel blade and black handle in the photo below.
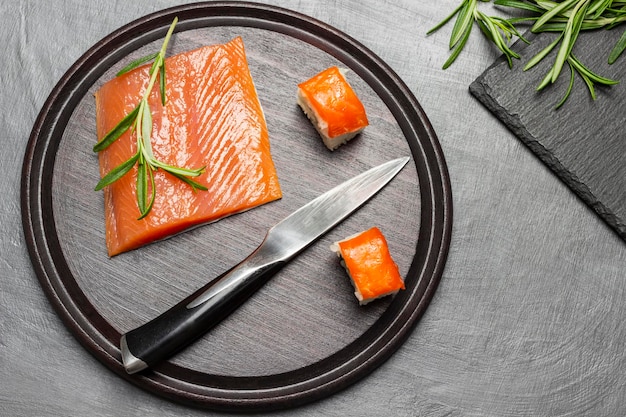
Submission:
M 120 339 L 122 363 L 134 374 L 156 365 L 228 316 L 289 260 L 361 207 L 409 161 L 394 159 L 345 181 L 271 227 L 243 261 Z

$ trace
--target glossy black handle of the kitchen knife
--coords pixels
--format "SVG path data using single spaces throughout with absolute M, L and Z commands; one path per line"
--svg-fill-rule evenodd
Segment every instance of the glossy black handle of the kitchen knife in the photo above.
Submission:
M 242 265 L 239 264 L 158 317 L 122 335 L 120 345 L 126 372 L 142 371 L 191 344 L 239 307 L 285 263 L 284 260 L 275 261 L 230 279 L 231 273 Z M 191 303 L 220 285 L 223 288 L 206 301 L 190 307 Z

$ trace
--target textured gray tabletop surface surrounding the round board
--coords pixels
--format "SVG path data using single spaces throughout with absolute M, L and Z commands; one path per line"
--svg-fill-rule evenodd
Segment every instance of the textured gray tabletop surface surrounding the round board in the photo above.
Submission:
M 41 291 L 20 224 L 23 153 L 54 84 L 103 36 L 180 3 L 0 4 L 2 415 L 217 415 L 145 393 L 88 354 Z M 447 267 L 408 341 L 358 384 L 277 414 L 624 415 L 626 245 L 469 94 L 498 55 L 477 31 L 440 69 L 450 27 L 425 33 L 457 1 L 269 3 L 347 32 L 400 75 L 437 131 L 454 197 Z

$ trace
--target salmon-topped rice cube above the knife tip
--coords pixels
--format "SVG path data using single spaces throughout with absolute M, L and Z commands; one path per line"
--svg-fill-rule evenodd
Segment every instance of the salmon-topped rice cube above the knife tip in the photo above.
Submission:
M 363 103 L 338 67 L 327 68 L 298 84 L 298 105 L 331 151 L 369 124 Z

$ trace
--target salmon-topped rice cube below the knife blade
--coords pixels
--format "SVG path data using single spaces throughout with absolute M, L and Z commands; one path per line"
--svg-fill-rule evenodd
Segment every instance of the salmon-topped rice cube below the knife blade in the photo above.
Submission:
M 341 240 L 331 249 L 342 258 L 359 304 L 367 304 L 404 289 L 398 265 L 389 253 L 385 236 L 377 227 Z

